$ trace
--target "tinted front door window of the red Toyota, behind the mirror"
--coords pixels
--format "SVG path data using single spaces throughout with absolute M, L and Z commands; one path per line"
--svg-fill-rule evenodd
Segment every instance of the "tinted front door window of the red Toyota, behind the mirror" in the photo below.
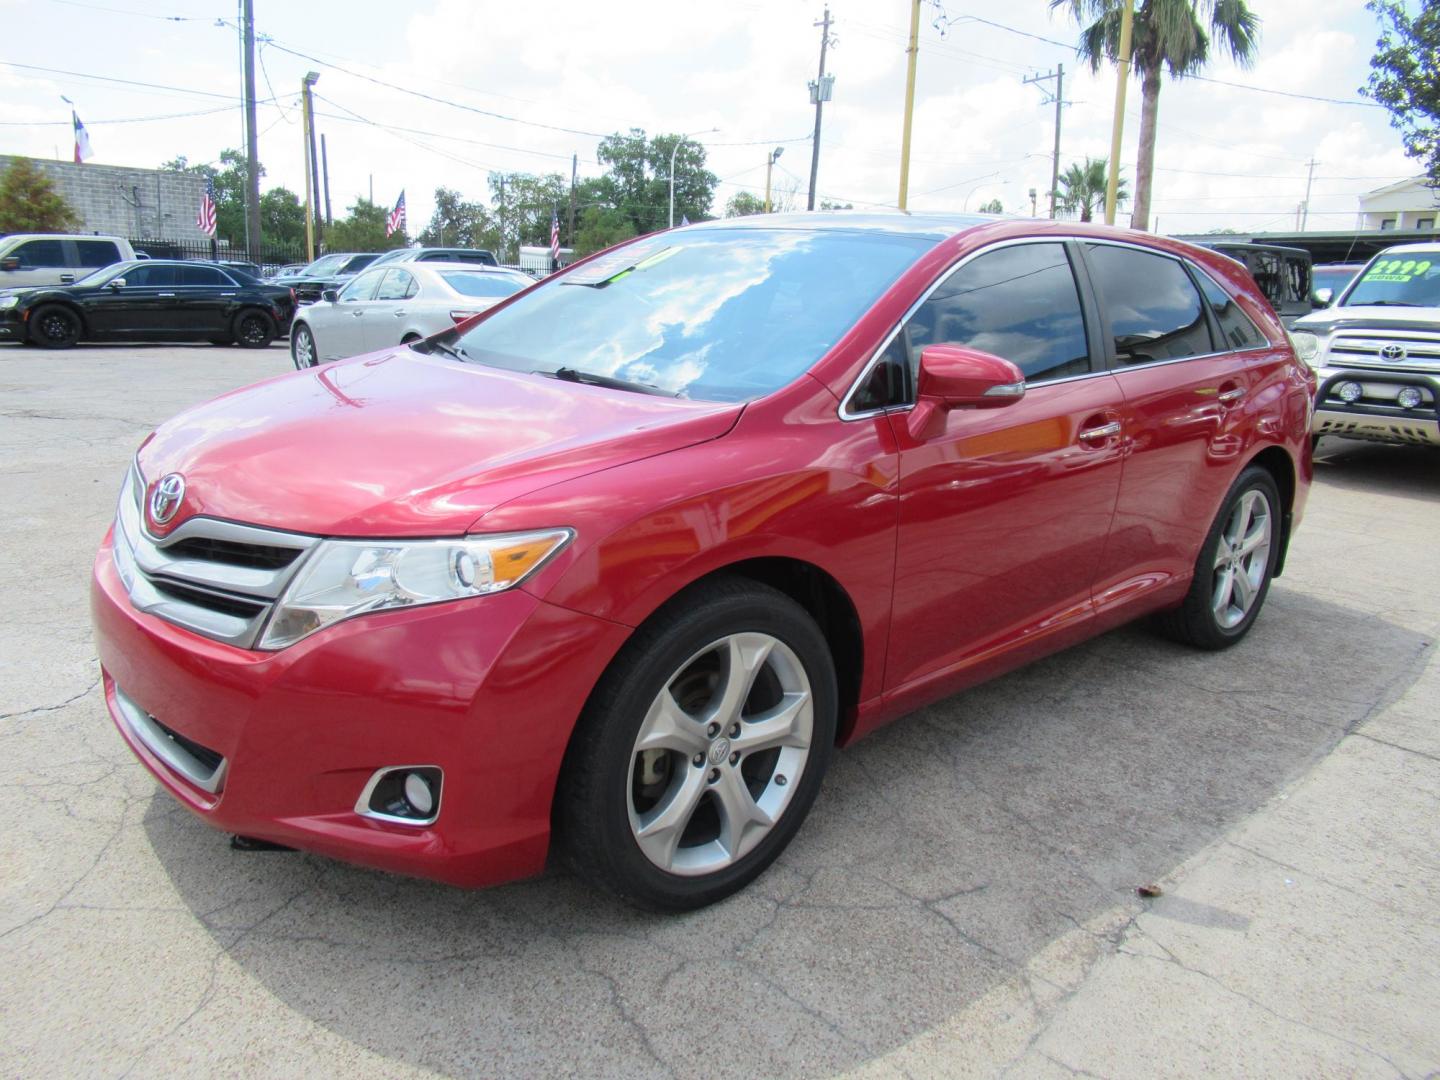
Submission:
M 1060 243 L 1021 243 L 971 259 L 916 311 L 906 336 L 912 372 L 933 344 L 1004 357 L 1031 383 L 1090 370 L 1080 292 Z

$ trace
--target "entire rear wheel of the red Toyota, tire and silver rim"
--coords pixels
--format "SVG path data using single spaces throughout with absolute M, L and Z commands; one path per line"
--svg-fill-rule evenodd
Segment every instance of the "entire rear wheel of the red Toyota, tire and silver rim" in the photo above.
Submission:
M 1241 472 L 1200 549 L 1185 602 L 1156 616 L 1161 632 L 1205 649 L 1246 636 L 1280 557 L 1280 513 L 1270 472 L 1259 465 Z

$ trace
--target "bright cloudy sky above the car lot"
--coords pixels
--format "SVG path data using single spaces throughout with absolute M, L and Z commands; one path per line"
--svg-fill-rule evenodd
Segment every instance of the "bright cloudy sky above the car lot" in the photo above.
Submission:
M 1263 20 L 1259 62 L 1217 62 L 1210 78 L 1361 102 L 1377 27 L 1358 0 L 1251 3 Z M 821 10 L 822 0 L 255 0 L 256 32 L 269 39 L 258 81 L 264 186 L 304 190 L 295 105 L 314 69 L 337 215 L 373 179 L 379 203 L 408 192 L 418 232 L 439 184 L 484 197 L 490 170 L 567 173 L 572 154 L 582 176 L 595 174 L 599 138 L 631 127 L 703 132 L 723 179 L 716 213 L 737 192 L 763 190 L 766 154 L 780 145 L 776 183 L 798 189 L 804 206 Z M 819 193 L 893 206 L 909 3 L 832 0 L 831 13 L 835 95 Z M 76 102 L 98 163 L 207 161 L 243 145 L 236 0 L 0 0 L 0 19 L 19 27 L 0 48 L 6 153 L 69 157 L 60 95 Z M 1060 63 L 1073 102 L 1061 167 L 1109 151 L 1115 76 L 1083 69 L 1064 45 L 1076 36 L 1044 0 L 924 0 L 912 209 L 999 199 L 1028 213 L 1037 189 L 1043 212 L 1054 108 L 1022 79 Z M 1161 232 L 1295 228 L 1312 158 L 1308 228 L 1349 228 L 1358 193 L 1420 171 L 1374 107 L 1184 81 L 1166 84 L 1159 117 Z M 1130 177 L 1138 125 L 1132 84 Z

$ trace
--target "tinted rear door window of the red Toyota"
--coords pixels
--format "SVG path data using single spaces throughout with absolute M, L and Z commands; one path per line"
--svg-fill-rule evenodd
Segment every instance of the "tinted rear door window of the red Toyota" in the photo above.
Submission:
M 1092 243 L 1087 261 L 1110 317 L 1119 363 L 1184 360 L 1214 351 L 1200 294 L 1176 259 Z

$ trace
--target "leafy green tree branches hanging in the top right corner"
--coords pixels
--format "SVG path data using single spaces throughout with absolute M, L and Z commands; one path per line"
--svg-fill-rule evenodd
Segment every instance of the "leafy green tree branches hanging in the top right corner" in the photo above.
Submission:
M 1416 16 L 1397 0 L 1369 0 L 1365 7 L 1381 30 L 1361 94 L 1385 107 L 1405 153 L 1440 183 L 1440 0 L 1421 0 Z

